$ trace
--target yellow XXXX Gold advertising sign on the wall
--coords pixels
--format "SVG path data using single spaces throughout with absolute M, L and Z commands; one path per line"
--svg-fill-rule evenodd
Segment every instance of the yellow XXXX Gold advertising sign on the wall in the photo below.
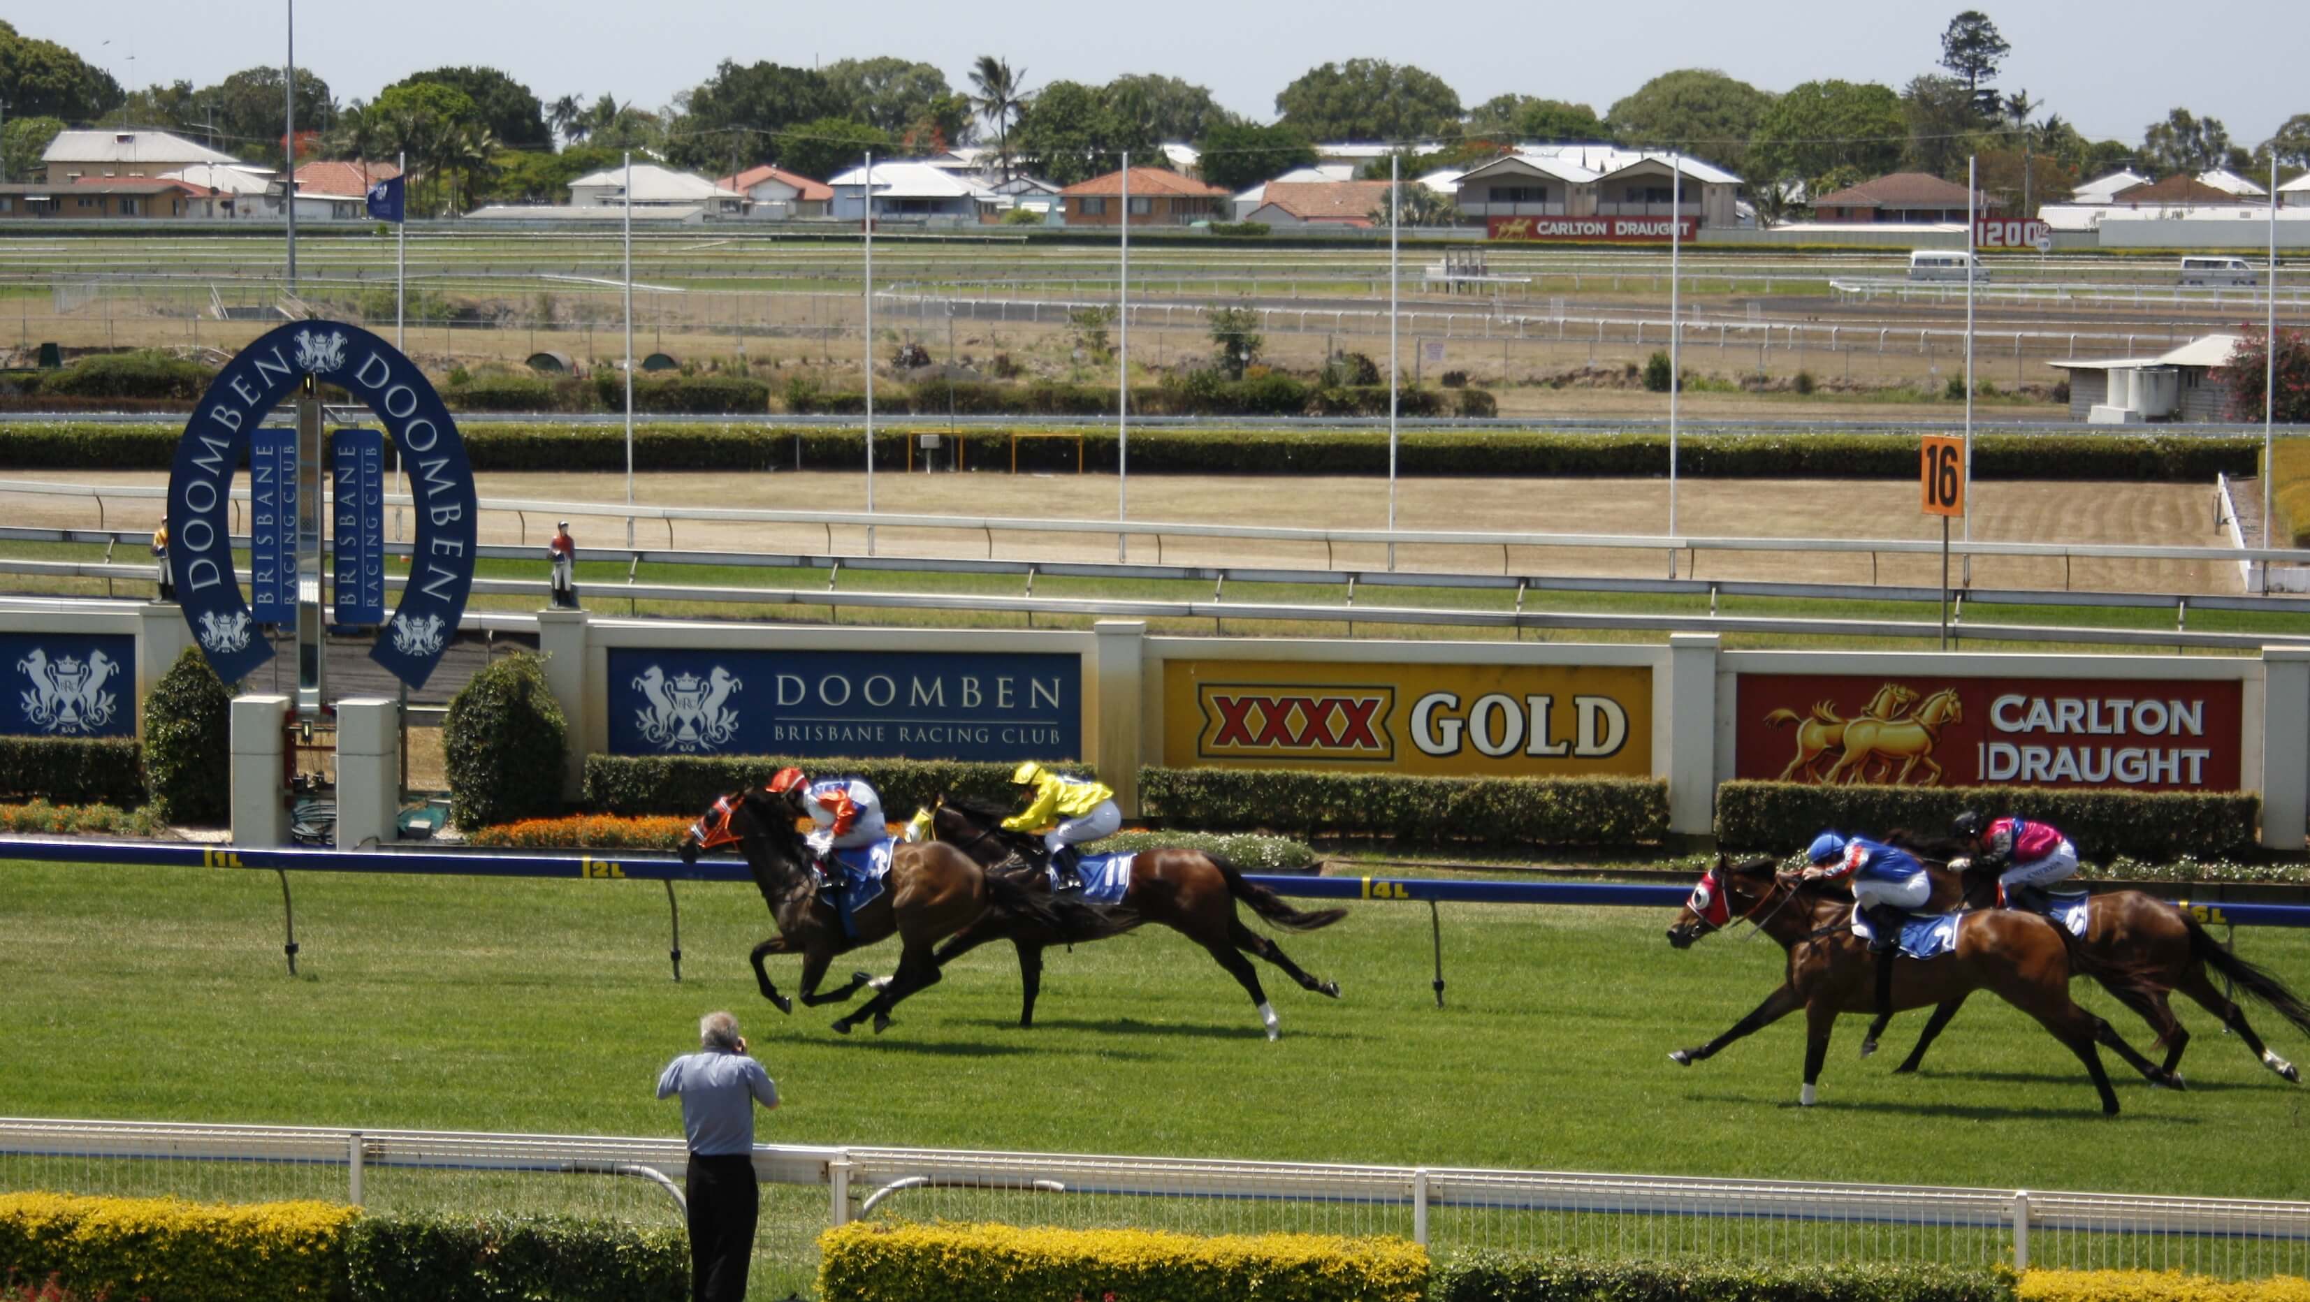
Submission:
M 1164 762 L 1652 773 L 1652 669 L 1169 660 Z

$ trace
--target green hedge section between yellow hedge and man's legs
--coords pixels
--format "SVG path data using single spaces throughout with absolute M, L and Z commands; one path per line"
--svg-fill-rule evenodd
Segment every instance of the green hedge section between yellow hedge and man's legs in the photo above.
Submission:
M 691 1244 L 679 1228 L 566 1217 L 365 1217 L 344 1242 L 353 1302 L 681 1302 Z

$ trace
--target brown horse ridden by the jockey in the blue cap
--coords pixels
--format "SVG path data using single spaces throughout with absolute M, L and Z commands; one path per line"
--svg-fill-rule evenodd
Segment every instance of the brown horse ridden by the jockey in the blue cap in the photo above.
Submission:
M 1804 1090 L 1797 1094 L 1797 1103 L 1811 1106 L 1836 1013 L 1864 1013 L 1876 1007 L 1878 958 L 1846 923 L 1853 900 L 1843 891 L 1783 877 L 1774 868 L 1772 859 L 1739 866 L 1719 859 L 1716 868 L 1700 877 L 1700 886 L 1693 889 L 1677 923 L 1668 928 L 1668 942 L 1689 949 L 1712 930 L 1749 921 L 1788 951 L 1788 976 L 1732 1030 L 1668 1057 L 1679 1067 L 1691 1067 L 1702 1057 L 1714 1057 L 1735 1039 L 1804 1009 Z M 2074 951 L 2067 935 L 2042 916 L 2010 910 L 1964 914 L 1959 916 L 1954 953 L 1922 963 L 1894 960 L 1887 1007 L 1917 1009 L 1973 990 L 1994 990 L 2007 1004 L 2037 1018 L 2086 1064 L 2093 1090 L 2102 1099 L 2102 1113 L 2116 1115 L 2118 1094 L 2109 1087 L 2109 1073 L 2102 1071 L 2095 1043 L 2109 1046 L 2153 1085 L 2178 1090 L 2181 1080 L 2134 1053 L 2109 1023 L 2070 1002 L 2072 963 L 2093 970 L 2091 958 Z

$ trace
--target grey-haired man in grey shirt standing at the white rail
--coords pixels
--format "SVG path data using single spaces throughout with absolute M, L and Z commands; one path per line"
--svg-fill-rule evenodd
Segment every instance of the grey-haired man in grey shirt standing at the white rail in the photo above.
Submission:
M 737 1018 L 698 1020 L 698 1053 L 658 1073 L 658 1099 L 681 1094 L 681 1133 L 691 1143 L 691 1300 L 744 1302 L 753 1263 L 753 1226 L 762 1187 L 753 1173 L 753 1106 L 778 1106 L 778 1087 L 746 1057 Z

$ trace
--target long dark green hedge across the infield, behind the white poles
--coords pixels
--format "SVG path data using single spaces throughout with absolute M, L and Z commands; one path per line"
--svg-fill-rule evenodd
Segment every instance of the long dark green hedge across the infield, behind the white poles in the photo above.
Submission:
M 1462 390 L 1474 392 L 1474 390 Z M 878 395 L 880 397 L 880 395 Z M 1111 409 L 1109 409 L 1111 411 Z M 940 409 L 945 413 L 945 409 Z M 169 469 L 176 425 L 83 425 L 0 420 L 0 469 Z M 1009 429 L 959 434 L 966 466 L 1009 466 Z M 1116 466 L 1116 432 L 1083 427 L 1083 464 Z M 875 439 L 878 466 L 903 466 L 903 434 Z M 480 471 L 624 471 L 624 429 L 608 425 L 467 425 Z M 1913 439 L 1883 434 L 1689 434 L 1677 473 L 1696 478 L 1913 478 Z M 1973 473 L 1984 480 L 2213 482 L 2250 476 L 2259 443 L 2234 436 L 1984 434 Z M 866 457 L 864 429 L 792 429 L 772 422 L 635 425 L 640 469 L 850 471 Z M 1074 469 L 1074 441 L 1019 443 L 1021 469 Z M 1134 473 L 1337 473 L 1384 476 L 1388 436 L 1363 429 L 1134 429 Z M 1659 434 L 1564 434 L 1550 429 L 1414 429 L 1402 434 L 1404 476 L 1649 478 L 1668 473 Z

